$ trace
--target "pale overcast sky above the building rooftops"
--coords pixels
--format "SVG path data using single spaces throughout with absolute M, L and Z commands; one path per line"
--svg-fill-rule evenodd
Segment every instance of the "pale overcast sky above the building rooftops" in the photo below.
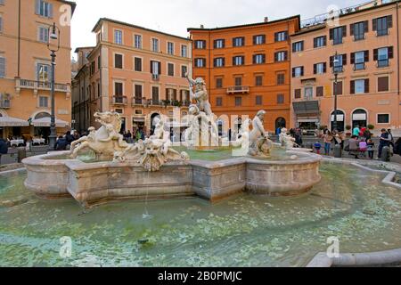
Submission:
M 186 28 L 216 28 L 277 20 L 292 15 L 308 19 L 327 11 L 368 0 L 75 0 L 72 18 L 72 51 L 95 44 L 91 33 L 99 18 L 115 20 L 187 37 Z

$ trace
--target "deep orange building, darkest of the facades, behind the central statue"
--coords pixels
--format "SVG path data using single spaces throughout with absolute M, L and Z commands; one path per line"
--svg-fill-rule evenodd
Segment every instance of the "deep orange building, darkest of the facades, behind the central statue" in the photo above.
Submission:
M 241 120 L 266 110 L 266 130 L 287 126 L 291 106 L 291 40 L 299 16 L 225 28 L 188 28 L 193 77 L 202 77 L 213 112 L 237 132 Z M 225 117 L 228 116 L 228 117 Z M 236 125 L 236 126 L 235 126 Z

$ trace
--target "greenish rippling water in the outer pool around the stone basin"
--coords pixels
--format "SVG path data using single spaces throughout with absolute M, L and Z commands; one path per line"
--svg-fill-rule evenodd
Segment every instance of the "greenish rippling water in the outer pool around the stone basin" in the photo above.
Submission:
M 0 175 L 0 201 L 29 200 L 0 208 L 0 266 L 301 266 L 330 236 L 341 252 L 401 248 L 399 190 L 356 167 L 323 163 L 321 173 L 298 198 L 122 201 L 86 214 L 72 199 L 37 199 L 24 173 Z

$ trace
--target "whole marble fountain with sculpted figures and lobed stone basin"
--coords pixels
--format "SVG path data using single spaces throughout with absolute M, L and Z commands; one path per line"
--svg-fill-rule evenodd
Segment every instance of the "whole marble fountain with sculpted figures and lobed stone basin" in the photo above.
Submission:
M 319 183 L 321 157 L 290 148 L 288 137 L 282 158 L 272 159 L 274 143 L 264 128 L 266 111 L 245 121 L 232 142 L 233 155 L 217 161 L 190 159 L 187 151 L 224 150 L 227 140 L 217 135 L 203 79 L 190 83 L 189 127 L 184 133 L 185 151 L 176 151 L 164 121 L 155 118 L 154 134 L 128 144 L 119 134 L 121 120 L 115 112 L 96 113 L 101 127 L 71 145 L 70 152 L 50 152 L 24 159 L 28 170 L 25 186 L 47 199 L 73 197 L 85 207 L 114 199 L 172 199 L 198 195 L 217 201 L 241 191 L 269 196 L 294 196 Z M 250 130 L 250 125 L 252 126 Z M 79 155 L 94 152 L 94 161 Z

